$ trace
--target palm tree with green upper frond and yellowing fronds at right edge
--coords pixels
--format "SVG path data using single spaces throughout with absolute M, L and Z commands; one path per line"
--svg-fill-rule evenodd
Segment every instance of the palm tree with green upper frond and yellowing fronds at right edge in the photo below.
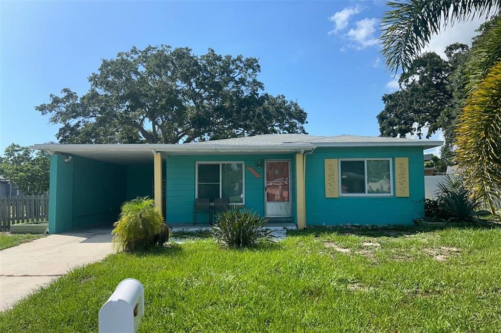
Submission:
M 409 69 L 430 37 L 447 25 L 498 15 L 501 0 L 387 2 L 382 53 L 393 72 Z M 501 15 L 484 25 L 467 61 L 468 96 L 456 127 L 456 161 L 465 186 L 491 211 L 501 196 Z

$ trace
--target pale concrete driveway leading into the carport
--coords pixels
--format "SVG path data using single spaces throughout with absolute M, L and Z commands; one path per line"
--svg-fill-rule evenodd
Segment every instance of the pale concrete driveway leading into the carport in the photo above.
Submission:
M 113 252 L 111 227 L 49 235 L 0 251 L 0 311 L 69 269 Z

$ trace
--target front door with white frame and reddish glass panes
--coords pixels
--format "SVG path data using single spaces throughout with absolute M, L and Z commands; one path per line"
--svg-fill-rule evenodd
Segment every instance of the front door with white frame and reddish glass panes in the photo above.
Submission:
M 291 216 L 290 163 L 288 160 L 265 161 L 266 216 Z

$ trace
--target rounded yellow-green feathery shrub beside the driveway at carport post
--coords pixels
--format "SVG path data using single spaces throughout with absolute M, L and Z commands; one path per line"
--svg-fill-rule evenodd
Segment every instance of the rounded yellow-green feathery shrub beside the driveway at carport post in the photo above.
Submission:
M 148 197 L 137 197 L 122 205 L 120 218 L 112 231 L 118 249 L 146 249 L 161 246 L 168 240 L 169 230 L 162 212 L 153 202 Z

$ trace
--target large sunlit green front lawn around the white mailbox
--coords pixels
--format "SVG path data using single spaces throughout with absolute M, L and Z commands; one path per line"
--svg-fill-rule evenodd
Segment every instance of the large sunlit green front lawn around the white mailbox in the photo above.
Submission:
M 447 331 L 501 327 L 501 228 L 308 228 L 112 254 L 0 314 L 0 331 L 97 331 L 117 283 L 145 287 L 140 332 Z

